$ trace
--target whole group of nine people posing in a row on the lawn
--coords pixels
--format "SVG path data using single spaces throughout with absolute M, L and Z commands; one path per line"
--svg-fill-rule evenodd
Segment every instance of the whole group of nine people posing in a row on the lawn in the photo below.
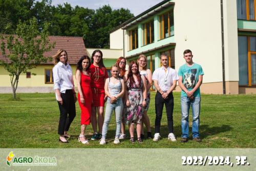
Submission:
M 103 54 L 95 50 L 90 59 L 83 55 L 77 62 L 76 82 L 78 96 L 74 89 L 72 69 L 68 64 L 68 53 L 59 49 L 53 56 L 55 66 L 53 68 L 54 90 L 59 106 L 59 142 L 68 143 L 69 127 L 76 116 L 75 102 L 81 108 L 81 133 L 78 141 L 88 144 L 84 135 L 86 126 L 92 123 L 94 134 L 91 140 L 99 139 L 100 144 L 106 143 L 106 134 L 113 112 L 116 120 L 116 134 L 114 144 L 125 139 L 125 125 L 129 125 L 130 141 L 135 143 L 134 131 L 137 132 L 137 142 L 142 143 L 144 139 L 143 125 L 147 130 L 147 138 L 153 141 L 160 140 L 160 125 L 163 105 L 165 104 L 168 126 L 168 139 L 176 141 L 173 129 L 173 90 L 177 81 L 181 92 L 181 142 L 188 141 L 188 112 L 191 106 L 193 113 L 192 133 L 193 139 L 201 142 L 199 134 L 200 115 L 200 86 L 202 84 L 203 70 L 200 65 L 194 63 L 192 52 L 185 50 L 185 64 L 180 67 L 179 72 L 168 65 L 168 56 L 160 55 L 161 67 L 156 69 L 152 75 L 147 69 L 147 58 L 141 54 L 137 61 L 131 61 L 129 70 L 125 70 L 126 60 L 119 57 L 115 65 L 111 66 L 111 77 L 103 64 Z M 155 97 L 155 135 L 152 136 L 150 119 L 147 110 L 150 105 L 150 89 L 154 81 L 157 91 Z M 106 105 L 105 105 L 106 102 Z M 104 115 L 104 105 L 106 106 Z M 98 125 L 98 131 L 97 131 Z

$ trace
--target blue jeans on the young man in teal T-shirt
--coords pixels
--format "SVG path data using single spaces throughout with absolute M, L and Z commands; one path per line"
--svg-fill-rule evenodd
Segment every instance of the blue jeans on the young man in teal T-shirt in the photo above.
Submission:
M 201 97 L 195 97 L 193 100 L 190 100 L 188 97 L 181 97 L 181 130 L 182 130 L 182 138 L 188 138 L 188 116 L 189 116 L 189 108 L 191 105 L 192 108 L 192 136 L 193 138 L 200 137 L 199 134 L 199 115 L 200 115 L 200 103 Z

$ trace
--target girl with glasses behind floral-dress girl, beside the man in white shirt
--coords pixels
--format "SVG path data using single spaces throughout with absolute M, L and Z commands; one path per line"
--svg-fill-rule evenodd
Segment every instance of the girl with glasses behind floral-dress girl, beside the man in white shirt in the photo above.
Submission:
M 147 116 L 147 110 L 148 110 L 148 107 L 150 106 L 150 88 L 152 86 L 152 73 L 151 73 L 150 69 L 147 69 L 147 58 L 145 55 L 141 54 L 137 61 L 139 63 L 140 75 L 145 76 L 146 83 L 147 83 L 147 85 L 146 85 L 146 90 L 147 90 L 146 106 L 144 108 L 142 122 L 146 125 L 147 138 L 152 138 L 151 127 L 150 127 L 150 118 L 148 118 L 148 116 Z M 143 124 L 142 124 L 141 134 L 142 134 L 141 137 L 144 138 Z

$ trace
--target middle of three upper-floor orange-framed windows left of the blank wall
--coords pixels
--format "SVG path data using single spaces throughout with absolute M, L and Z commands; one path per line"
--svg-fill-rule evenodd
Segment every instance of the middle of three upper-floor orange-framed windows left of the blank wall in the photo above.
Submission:
M 154 40 L 154 20 L 151 20 L 143 24 L 143 45 L 151 44 Z

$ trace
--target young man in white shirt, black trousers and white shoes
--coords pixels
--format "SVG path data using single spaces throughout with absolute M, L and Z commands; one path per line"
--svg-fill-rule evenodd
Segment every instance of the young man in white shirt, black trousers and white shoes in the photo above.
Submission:
M 160 139 L 160 125 L 163 113 L 163 105 L 165 104 L 168 126 L 168 139 L 176 141 L 173 126 L 173 110 L 174 96 L 173 90 L 176 88 L 177 80 L 179 79 L 177 72 L 168 66 L 169 58 L 166 54 L 161 54 L 161 68 L 154 71 L 152 79 L 157 90 L 155 98 L 156 120 L 155 120 L 155 135 L 153 141 Z

